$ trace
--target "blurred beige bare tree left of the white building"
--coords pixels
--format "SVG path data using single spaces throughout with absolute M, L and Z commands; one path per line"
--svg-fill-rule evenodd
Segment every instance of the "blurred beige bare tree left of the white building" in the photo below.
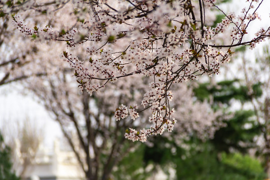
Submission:
M 3 120 L 0 131 L 9 148 L 12 169 L 20 179 L 23 179 L 43 141 L 43 129 L 25 117 L 17 121 Z

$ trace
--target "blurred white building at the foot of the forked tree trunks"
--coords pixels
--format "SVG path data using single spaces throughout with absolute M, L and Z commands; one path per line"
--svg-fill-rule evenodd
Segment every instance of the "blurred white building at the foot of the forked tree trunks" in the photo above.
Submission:
M 54 141 L 53 149 L 40 145 L 34 161 L 30 164 L 22 179 L 31 180 L 81 180 L 83 171 L 68 145 Z

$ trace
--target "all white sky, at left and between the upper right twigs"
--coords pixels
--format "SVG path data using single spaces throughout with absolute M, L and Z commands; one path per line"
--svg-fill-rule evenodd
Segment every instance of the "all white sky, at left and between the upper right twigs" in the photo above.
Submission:
M 240 11 L 242 8 L 241 4 L 245 1 L 232 0 L 233 5 L 225 5 L 224 8 L 234 11 L 237 14 L 237 11 Z M 260 16 L 264 21 L 257 20 L 253 23 L 250 26 L 250 35 L 252 35 L 251 32 L 254 33 L 256 31 L 254 27 L 266 27 L 270 24 L 269 7 L 270 0 L 264 0 L 259 9 Z M 258 48 L 261 46 L 260 44 Z M 250 53 L 255 54 L 255 50 Z M 17 121 L 22 122 L 28 117 L 30 122 L 34 123 L 37 128 L 44 130 L 44 145 L 48 147 L 52 146 L 55 137 L 61 137 L 62 133 L 59 125 L 52 120 L 42 105 L 34 101 L 31 96 L 16 92 L 15 86 L 16 84 L 0 86 L 0 128 L 6 128 L 7 125 L 14 124 Z

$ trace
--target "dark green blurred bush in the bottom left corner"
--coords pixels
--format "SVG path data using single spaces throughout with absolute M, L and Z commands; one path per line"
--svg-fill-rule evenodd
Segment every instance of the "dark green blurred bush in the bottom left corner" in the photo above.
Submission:
M 18 180 L 15 172 L 12 170 L 11 149 L 4 143 L 0 133 L 0 180 Z

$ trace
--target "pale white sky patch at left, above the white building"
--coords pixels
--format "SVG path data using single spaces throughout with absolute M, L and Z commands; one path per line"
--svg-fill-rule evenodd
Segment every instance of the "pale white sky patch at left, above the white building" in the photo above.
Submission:
M 10 125 L 17 122 L 22 124 L 23 120 L 28 118 L 33 127 L 43 131 L 44 145 L 52 147 L 54 139 L 62 135 L 58 123 L 52 120 L 44 107 L 33 97 L 12 90 L 15 85 L 0 86 L 0 129 L 9 128 L 10 131 Z

